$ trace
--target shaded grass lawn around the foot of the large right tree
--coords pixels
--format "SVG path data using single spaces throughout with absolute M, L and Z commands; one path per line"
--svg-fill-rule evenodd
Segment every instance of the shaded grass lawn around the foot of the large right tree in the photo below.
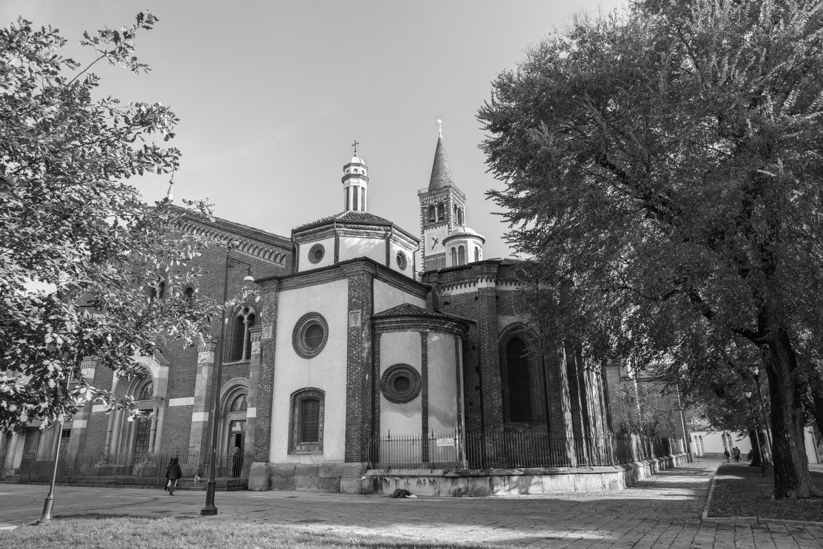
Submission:
M 823 473 L 811 472 L 811 482 L 823 491 Z M 774 501 L 774 469 L 748 464 L 723 464 L 714 477 L 710 517 L 760 517 L 760 519 L 813 520 L 823 522 L 823 497 L 811 500 Z

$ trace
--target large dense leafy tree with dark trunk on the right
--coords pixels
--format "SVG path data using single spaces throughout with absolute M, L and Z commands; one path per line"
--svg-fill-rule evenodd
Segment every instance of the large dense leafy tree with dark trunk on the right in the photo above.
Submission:
M 478 114 L 559 335 L 626 354 L 709 333 L 762 360 L 777 498 L 816 495 L 821 27 L 816 1 L 636 2 L 533 48 Z

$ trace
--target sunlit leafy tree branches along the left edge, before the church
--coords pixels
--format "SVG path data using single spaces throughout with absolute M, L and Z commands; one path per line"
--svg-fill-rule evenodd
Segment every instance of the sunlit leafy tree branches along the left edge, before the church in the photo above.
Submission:
M 175 228 L 196 214 L 146 205 L 127 182 L 176 168 L 179 150 L 152 140 L 173 138 L 177 118 L 162 104 L 94 99 L 95 63 L 148 70 L 134 38 L 156 21 L 139 13 L 84 34 L 95 58 L 82 68 L 59 55 L 57 30 L 22 19 L 0 30 L 0 430 L 71 417 L 91 399 L 128 405 L 88 385 L 83 358 L 135 375 L 134 357 L 196 340 L 215 310 L 183 294 L 207 242 Z

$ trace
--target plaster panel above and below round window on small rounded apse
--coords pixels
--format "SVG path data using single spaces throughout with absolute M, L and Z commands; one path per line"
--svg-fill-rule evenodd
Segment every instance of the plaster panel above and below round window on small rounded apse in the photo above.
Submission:
M 380 335 L 380 376 L 394 364 L 403 363 L 421 371 L 421 340 L 419 332 L 389 332 Z M 422 429 L 422 398 L 394 404 L 380 394 L 380 436 L 420 435 Z

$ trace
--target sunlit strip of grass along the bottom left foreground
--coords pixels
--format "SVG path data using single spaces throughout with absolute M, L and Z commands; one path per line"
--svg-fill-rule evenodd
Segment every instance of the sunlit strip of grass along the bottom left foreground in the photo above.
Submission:
M 0 532 L 0 547 L 15 549 L 479 549 L 477 544 L 417 542 L 402 537 L 309 533 L 281 526 L 197 519 L 116 517 L 57 519 Z

